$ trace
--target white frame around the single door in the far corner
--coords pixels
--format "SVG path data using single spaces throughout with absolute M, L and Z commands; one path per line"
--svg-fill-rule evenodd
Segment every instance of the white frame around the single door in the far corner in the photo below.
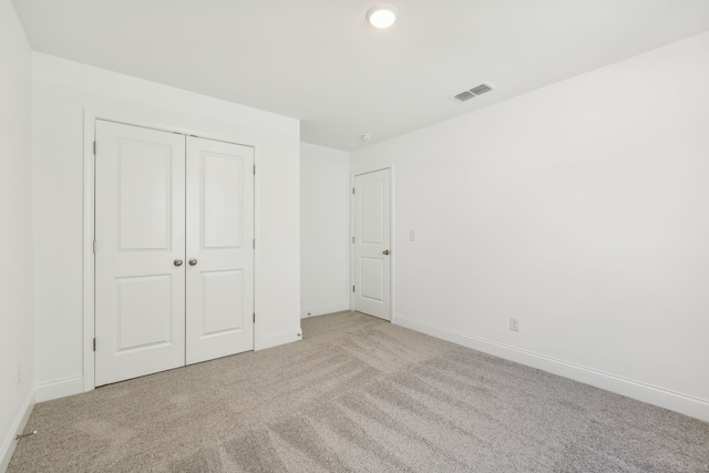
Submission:
M 357 280 L 357 275 L 354 271 L 354 244 L 352 239 L 354 238 L 356 228 L 354 228 L 354 196 L 352 195 L 352 188 L 354 188 L 354 177 L 361 176 L 363 174 L 371 174 L 378 171 L 387 171 L 389 169 L 389 248 L 391 248 L 391 257 L 389 258 L 389 264 L 391 265 L 390 269 L 390 280 L 389 280 L 389 322 L 393 323 L 394 321 L 394 281 L 395 281 L 395 271 L 394 271 L 394 261 L 397 258 L 397 248 L 394 244 L 394 229 L 395 229 L 395 218 L 394 218 L 394 164 L 390 163 L 387 166 L 376 166 L 372 168 L 362 168 L 357 172 L 350 173 L 350 288 L 354 285 Z M 350 308 L 354 310 L 354 291 L 348 288 L 350 294 Z

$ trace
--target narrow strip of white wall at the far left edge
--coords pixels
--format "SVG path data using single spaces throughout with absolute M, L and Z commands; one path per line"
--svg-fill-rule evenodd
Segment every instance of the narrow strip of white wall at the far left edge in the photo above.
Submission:
M 24 31 L 0 0 L 0 471 L 34 395 L 30 75 Z

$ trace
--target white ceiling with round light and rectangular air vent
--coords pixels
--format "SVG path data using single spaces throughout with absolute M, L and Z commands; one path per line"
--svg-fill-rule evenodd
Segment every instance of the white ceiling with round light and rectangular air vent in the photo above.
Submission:
M 388 30 L 364 20 L 374 0 L 14 6 L 35 51 L 292 116 L 343 151 L 709 30 L 708 0 L 383 2 Z M 482 82 L 496 89 L 450 99 Z

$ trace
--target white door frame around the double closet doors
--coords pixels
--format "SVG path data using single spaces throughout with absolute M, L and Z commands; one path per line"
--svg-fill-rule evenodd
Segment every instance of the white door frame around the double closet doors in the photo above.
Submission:
M 124 125 L 141 126 L 168 133 L 179 133 L 187 136 L 197 136 L 254 148 L 254 165 L 258 164 L 258 142 L 245 140 L 244 136 L 219 136 L 201 130 L 184 128 L 165 123 L 146 122 L 140 115 L 126 115 L 112 111 L 83 109 L 83 225 L 82 225 L 82 378 L 83 391 L 95 389 L 95 359 L 93 339 L 95 336 L 95 260 L 93 240 L 95 230 L 95 163 L 93 154 L 93 141 L 96 120 L 122 123 Z M 258 178 L 254 175 L 254 238 L 259 238 L 258 230 Z M 256 312 L 256 285 L 258 267 L 258 248 L 254 248 L 254 311 Z M 258 339 L 258 326 L 254 325 L 254 347 Z

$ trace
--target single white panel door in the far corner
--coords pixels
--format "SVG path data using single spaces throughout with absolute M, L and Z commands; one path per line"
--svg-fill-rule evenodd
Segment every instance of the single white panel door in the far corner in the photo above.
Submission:
M 391 320 L 389 169 L 354 176 L 353 309 Z

